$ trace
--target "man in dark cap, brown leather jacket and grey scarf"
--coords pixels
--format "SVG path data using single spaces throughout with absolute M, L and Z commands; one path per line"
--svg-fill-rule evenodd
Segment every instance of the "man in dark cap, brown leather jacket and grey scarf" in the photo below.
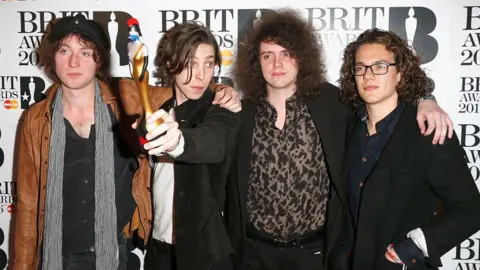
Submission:
M 149 235 L 150 168 L 127 147 L 135 133 L 109 87 L 109 49 L 82 15 L 52 26 L 45 71 L 56 83 L 19 124 L 13 269 L 126 269 L 125 235 Z M 217 101 L 235 103 L 228 91 Z

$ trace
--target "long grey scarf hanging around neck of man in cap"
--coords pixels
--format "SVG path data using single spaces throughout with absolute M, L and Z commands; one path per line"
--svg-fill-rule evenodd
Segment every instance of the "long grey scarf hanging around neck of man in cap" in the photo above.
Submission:
M 48 155 L 49 166 L 43 237 L 42 268 L 44 270 L 63 268 L 63 161 L 66 134 L 62 97 L 63 92 L 60 87 L 53 101 L 52 133 L 50 137 L 50 153 Z M 103 103 L 100 86 L 97 81 L 95 81 L 94 106 L 95 265 L 98 270 L 115 270 L 118 267 L 118 240 L 112 121 L 108 105 Z

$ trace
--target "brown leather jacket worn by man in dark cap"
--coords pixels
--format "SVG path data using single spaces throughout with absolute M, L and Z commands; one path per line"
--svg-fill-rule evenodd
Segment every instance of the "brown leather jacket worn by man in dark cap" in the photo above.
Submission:
M 47 98 L 24 113 L 19 121 L 19 148 L 18 148 L 18 203 L 15 227 L 15 249 L 13 254 L 13 269 L 37 269 L 40 260 L 41 245 L 43 240 L 43 226 L 45 218 L 45 194 L 48 171 L 48 155 L 51 132 L 50 108 L 52 100 L 58 89 L 53 85 L 47 90 Z M 100 82 L 102 99 L 110 105 L 115 116 L 122 125 L 125 139 L 132 145 L 138 145 L 135 131 L 131 123 L 122 121 L 122 108 L 110 88 Z M 159 96 L 170 96 L 171 92 L 150 91 Z M 128 95 L 127 99 L 128 100 Z M 160 100 L 164 100 L 160 97 Z M 133 101 L 132 101 L 133 102 Z M 139 104 L 136 102 L 135 104 Z M 132 139 L 134 138 L 134 139 Z M 130 224 L 124 231 L 127 236 L 138 229 L 144 239 L 150 232 L 151 202 L 150 195 L 144 190 L 149 190 L 150 168 L 148 160 L 141 157 L 139 168 L 134 175 L 133 196 L 137 209 Z M 143 219 L 140 219 L 140 216 Z

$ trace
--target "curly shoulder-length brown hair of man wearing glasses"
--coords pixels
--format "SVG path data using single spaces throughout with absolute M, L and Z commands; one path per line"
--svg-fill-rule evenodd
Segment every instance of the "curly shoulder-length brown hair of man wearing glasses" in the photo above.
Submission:
M 358 49 L 365 44 L 382 44 L 393 53 L 395 67 L 402 74 L 402 78 L 396 86 L 399 99 L 413 103 L 433 89 L 433 81 L 420 67 L 420 57 L 413 52 L 405 40 L 392 31 L 369 29 L 348 44 L 343 53 L 343 64 L 338 80 L 341 89 L 340 96 L 342 101 L 351 106 L 353 110 L 364 104 L 357 92 L 353 67 Z

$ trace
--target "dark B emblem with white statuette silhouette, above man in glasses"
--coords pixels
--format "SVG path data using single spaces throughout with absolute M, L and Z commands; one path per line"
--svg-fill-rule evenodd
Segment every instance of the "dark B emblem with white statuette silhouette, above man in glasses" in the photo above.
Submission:
M 422 64 L 435 59 L 438 42 L 430 34 L 437 26 L 437 17 L 432 10 L 425 7 L 392 7 L 389 14 L 389 30 L 407 40 L 422 56 Z

